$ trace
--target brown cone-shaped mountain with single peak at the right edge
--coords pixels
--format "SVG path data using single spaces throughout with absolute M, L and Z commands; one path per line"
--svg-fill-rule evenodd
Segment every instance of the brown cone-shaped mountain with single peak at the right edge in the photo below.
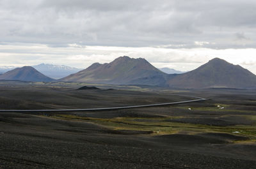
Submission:
M 177 75 L 167 82 L 169 87 L 179 88 L 255 88 L 256 75 L 239 65 L 214 58 L 196 70 Z

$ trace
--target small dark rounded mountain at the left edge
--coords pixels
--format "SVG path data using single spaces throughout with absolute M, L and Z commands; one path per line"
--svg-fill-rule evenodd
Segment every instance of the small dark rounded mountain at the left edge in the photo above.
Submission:
M 24 66 L 14 70 L 7 71 L 0 75 L 0 80 L 21 80 L 28 82 L 51 82 L 52 78 L 46 77 L 31 66 Z

